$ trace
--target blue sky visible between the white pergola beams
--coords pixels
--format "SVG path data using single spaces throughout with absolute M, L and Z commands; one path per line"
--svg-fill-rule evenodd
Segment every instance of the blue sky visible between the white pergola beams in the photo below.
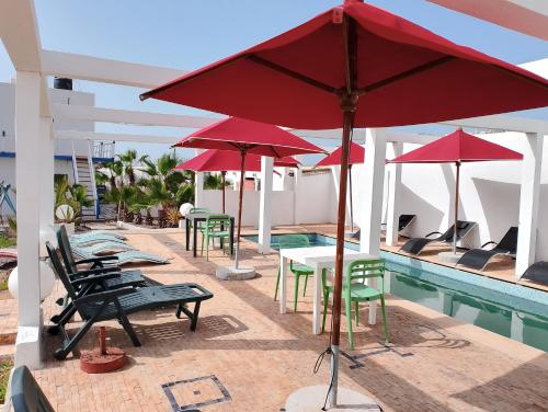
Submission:
M 35 0 L 43 48 L 139 64 L 197 69 L 294 27 L 340 0 Z M 414 23 L 503 60 L 522 64 L 548 57 L 548 44 L 424 0 L 368 0 Z M 0 81 L 9 82 L 13 67 L 0 44 Z M 95 104 L 172 114 L 215 114 L 175 104 L 138 99 L 142 90 L 75 81 L 75 89 L 95 93 Z M 528 116 L 548 118 L 547 111 Z M 168 134 L 191 130 L 96 124 L 96 131 Z M 413 131 L 427 131 L 414 129 Z M 320 146 L 333 141 L 315 141 Z M 118 144 L 125 150 L 127 144 Z M 138 145 L 153 157 L 161 145 Z M 181 153 L 187 156 L 187 153 Z

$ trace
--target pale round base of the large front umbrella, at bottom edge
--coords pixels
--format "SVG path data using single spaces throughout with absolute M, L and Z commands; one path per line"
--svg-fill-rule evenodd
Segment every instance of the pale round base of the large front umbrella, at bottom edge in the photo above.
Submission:
M 285 410 L 287 412 L 311 412 L 321 411 L 326 394 L 329 387 L 327 385 L 319 385 L 312 387 L 305 387 L 293 392 L 285 402 Z M 380 412 L 378 404 L 370 398 L 350 390 L 347 388 L 339 387 L 339 405 L 329 408 L 330 412 Z

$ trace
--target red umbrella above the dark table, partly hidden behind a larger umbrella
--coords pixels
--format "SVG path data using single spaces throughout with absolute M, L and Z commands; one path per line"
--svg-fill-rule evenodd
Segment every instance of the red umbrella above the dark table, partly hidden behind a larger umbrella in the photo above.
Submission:
M 206 150 L 203 153 L 175 167 L 176 170 L 192 170 L 194 172 L 220 172 L 222 176 L 222 213 L 225 213 L 225 185 L 227 171 L 238 171 L 241 167 L 240 153 L 231 150 Z M 299 162 L 287 156 L 283 159 L 274 159 L 274 167 L 298 168 Z M 246 172 L 261 171 L 261 157 L 248 154 L 246 157 Z

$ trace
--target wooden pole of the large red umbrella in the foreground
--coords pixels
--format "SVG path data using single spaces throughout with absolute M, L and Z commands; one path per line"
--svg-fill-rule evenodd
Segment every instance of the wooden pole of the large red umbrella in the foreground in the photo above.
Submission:
M 341 339 L 341 301 L 344 262 L 344 229 L 346 218 L 346 183 L 349 180 L 349 154 L 354 112 L 359 94 L 356 91 L 356 44 L 355 22 L 349 15 L 343 18 L 344 55 L 346 87 L 342 91 L 343 134 L 341 148 L 341 179 L 339 180 L 339 211 L 336 220 L 336 256 L 333 285 L 333 306 L 331 310 L 331 385 L 328 393 L 330 408 L 336 407 L 339 388 L 339 345 Z

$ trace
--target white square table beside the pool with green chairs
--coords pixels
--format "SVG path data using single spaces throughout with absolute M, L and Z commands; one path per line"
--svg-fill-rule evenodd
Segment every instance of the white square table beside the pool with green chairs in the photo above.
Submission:
M 323 268 L 333 268 L 335 265 L 336 247 L 313 247 L 313 248 L 294 248 L 282 249 L 279 251 L 279 313 L 287 311 L 287 273 L 289 272 L 289 261 L 301 263 L 313 267 L 313 314 L 312 314 L 312 332 L 321 333 L 321 272 Z M 375 260 L 379 256 L 361 253 L 354 250 L 344 249 L 343 273 L 346 273 L 347 266 L 357 260 Z M 375 323 L 376 305 L 372 302 L 369 307 L 369 323 Z

